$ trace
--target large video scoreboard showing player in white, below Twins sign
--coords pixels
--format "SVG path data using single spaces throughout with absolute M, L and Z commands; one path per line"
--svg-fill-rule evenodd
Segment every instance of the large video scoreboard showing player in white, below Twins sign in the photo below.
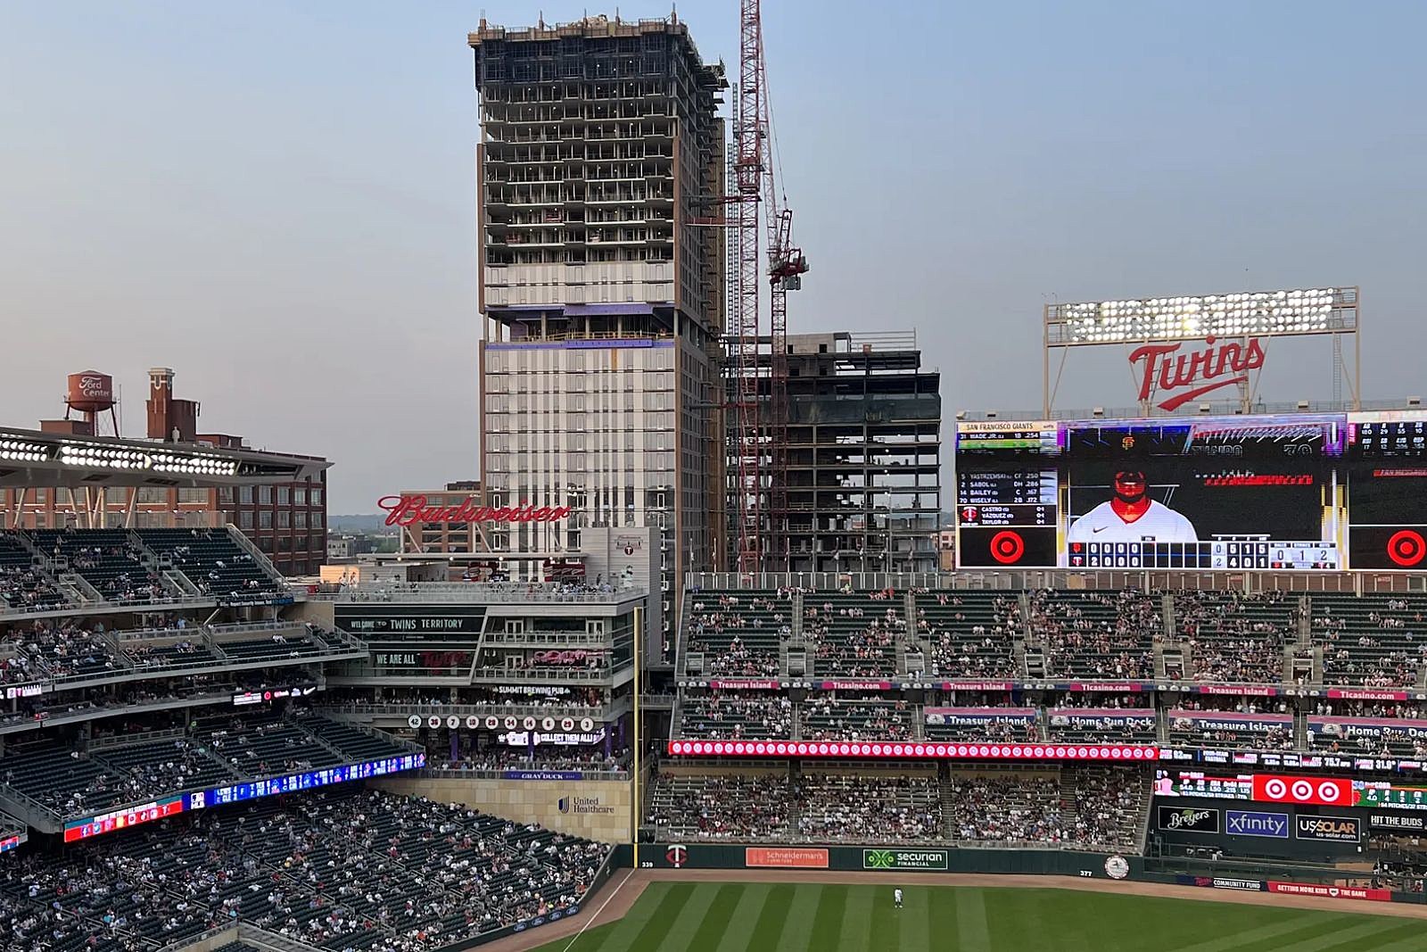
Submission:
M 1427 412 L 956 427 L 962 568 L 1427 569 Z

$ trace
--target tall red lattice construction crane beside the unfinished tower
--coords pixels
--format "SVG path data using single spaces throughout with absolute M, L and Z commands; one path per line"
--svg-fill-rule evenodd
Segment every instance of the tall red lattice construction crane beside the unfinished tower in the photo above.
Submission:
M 792 244 L 792 210 L 778 193 L 772 113 L 763 56 L 761 0 L 741 0 L 739 84 L 733 114 L 733 194 L 731 260 L 736 274 L 729 295 L 735 411 L 735 497 L 738 571 L 788 571 L 788 291 L 802 287 L 808 261 Z M 762 206 L 762 207 L 761 207 Z M 766 412 L 761 407 L 758 348 L 759 223 L 768 218 L 769 378 Z M 766 480 L 763 475 L 768 464 Z M 766 501 L 768 521 L 763 521 Z M 763 540 L 775 540 L 772 551 Z

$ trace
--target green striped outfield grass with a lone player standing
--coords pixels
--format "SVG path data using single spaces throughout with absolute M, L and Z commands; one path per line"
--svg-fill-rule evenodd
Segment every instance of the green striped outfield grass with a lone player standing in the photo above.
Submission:
M 539 952 L 1408 952 L 1427 921 L 1070 889 L 655 882 Z M 604 896 L 589 903 L 598 909 Z M 1344 903 L 1346 905 L 1346 903 Z M 1371 905 L 1371 903 L 1363 903 Z M 574 945 L 571 942 L 574 941 Z

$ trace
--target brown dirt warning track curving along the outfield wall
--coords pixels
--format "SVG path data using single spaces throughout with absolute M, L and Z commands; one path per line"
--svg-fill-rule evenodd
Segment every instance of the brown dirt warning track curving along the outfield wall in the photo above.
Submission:
M 521 935 L 512 935 L 489 945 L 481 952 L 525 952 L 548 942 L 574 936 L 581 929 L 601 926 L 622 919 L 651 882 L 806 882 L 865 885 L 869 881 L 883 882 L 888 889 L 900 886 L 977 886 L 990 889 L 1075 889 L 1079 892 L 1113 892 L 1130 896 L 1159 896 L 1164 899 L 1190 899 L 1199 902 L 1229 902 L 1246 906 L 1279 906 L 1284 909 L 1311 909 L 1316 912 L 1357 912 L 1363 915 L 1387 915 L 1403 919 L 1427 919 L 1427 905 L 1403 902 L 1371 902 L 1364 899 L 1316 899 L 1313 896 L 1289 896 L 1274 892 L 1240 892 L 1233 889 L 1207 889 L 1202 886 L 1176 886 L 1163 882 L 1139 882 L 1133 879 L 1079 879 L 1076 876 L 1043 876 L 1015 873 L 945 873 L 945 872 L 850 872 L 850 871 L 785 871 L 785 869 L 626 869 L 595 895 L 579 915 L 561 919 Z

